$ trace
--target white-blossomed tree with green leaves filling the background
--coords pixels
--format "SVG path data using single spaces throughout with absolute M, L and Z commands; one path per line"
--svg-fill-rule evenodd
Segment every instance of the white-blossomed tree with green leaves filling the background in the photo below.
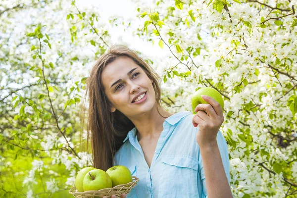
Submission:
M 169 53 L 142 56 L 163 79 L 170 112 L 191 111 L 201 87 L 221 93 L 234 197 L 295 197 L 297 0 L 135 5 L 134 19 L 108 23 L 96 6 L 75 0 L 1 2 L 0 196 L 67 195 L 77 171 L 92 164 L 81 98 L 88 69 L 113 44 L 109 27 L 116 25 Z M 24 157 L 30 167 L 15 170 Z M 7 183 L 17 177 L 22 190 Z

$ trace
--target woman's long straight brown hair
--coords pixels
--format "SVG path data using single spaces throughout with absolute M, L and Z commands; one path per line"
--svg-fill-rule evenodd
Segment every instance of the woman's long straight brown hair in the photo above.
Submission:
M 104 87 L 101 82 L 103 69 L 120 56 L 130 57 L 145 71 L 148 78 L 153 81 L 152 85 L 155 91 L 157 105 L 161 106 L 161 78 L 135 51 L 125 46 L 116 45 L 112 46 L 106 53 L 99 57 L 92 68 L 90 76 L 86 80 L 87 92 L 84 101 L 89 92 L 87 152 L 89 148 L 88 144 L 91 141 L 93 167 L 104 171 L 113 165 L 115 152 L 123 145 L 128 132 L 135 127 L 132 121 L 122 112 L 115 110 L 112 113 L 110 111 L 111 103 L 104 93 Z M 82 112 L 84 115 L 84 109 Z M 82 118 L 82 127 L 84 126 L 83 123 L 84 116 Z

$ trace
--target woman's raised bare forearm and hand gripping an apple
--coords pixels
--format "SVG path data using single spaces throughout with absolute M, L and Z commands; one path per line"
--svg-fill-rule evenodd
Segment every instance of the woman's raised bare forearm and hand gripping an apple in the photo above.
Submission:
M 203 98 L 203 97 L 202 97 Z M 193 125 L 199 125 L 197 143 L 205 175 L 208 198 L 233 198 L 217 143 L 218 131 L 224 121 L 220 104 L 211 97 L 203 98 L 209 104 L 198 104 Z M 202 111 L 204 110 L 204 111 Z

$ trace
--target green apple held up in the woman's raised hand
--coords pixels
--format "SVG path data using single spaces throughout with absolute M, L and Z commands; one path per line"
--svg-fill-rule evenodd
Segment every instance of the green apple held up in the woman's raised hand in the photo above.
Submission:
M 194 114 L 197 114 L 197 112 L 195 112 L 194 110 L 198 104 L 200 103 L 208 104 L 208 102 L 202 99 L 201 97 L 202 95 L 209 96 L 215 99 L 221 105 L 222 110 L 224 109 L 224 100 L 222 95 L 213 88 L 204 87 L 204 88 L 198 89 L 192 96 L 192 110 Z

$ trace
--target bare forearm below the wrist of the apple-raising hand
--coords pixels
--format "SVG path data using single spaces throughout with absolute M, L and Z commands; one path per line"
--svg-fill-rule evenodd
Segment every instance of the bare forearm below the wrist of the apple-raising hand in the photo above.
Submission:
M 200 148 L 208 198 L 233 198 L 217 143 Z

